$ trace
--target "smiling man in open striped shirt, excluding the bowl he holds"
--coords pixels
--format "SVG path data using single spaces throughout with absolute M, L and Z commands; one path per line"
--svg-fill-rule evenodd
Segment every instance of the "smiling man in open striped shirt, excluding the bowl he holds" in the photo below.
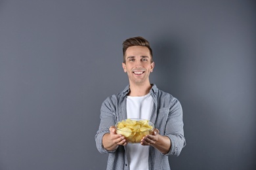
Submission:
M 122 67 L 129 86 L 102 103 L 95 135 L 98 151 L 109 153 L 107 169 L 170 169 L 168 156 L 179 156 L 186 145 L 181 104 L 150 84 L 149 76 L 155 65 L 152 57 L 146 39 L 133 37 L 123 42 Z M 127 143 L 115 128 L 117 122 L 126 118 L 150 120 L 156 129 L 139 144 Z

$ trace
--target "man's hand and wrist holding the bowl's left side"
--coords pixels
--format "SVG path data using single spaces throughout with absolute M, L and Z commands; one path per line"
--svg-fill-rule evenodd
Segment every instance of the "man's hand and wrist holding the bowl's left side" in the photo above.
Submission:
M 116 127 L 110 127 L 110 133 L 106 133 L 102 138 L 102 144 L 106 150 L 115 150 L 118 145 L 125 146 L 127 141 L 123 135 L 116 133 Z

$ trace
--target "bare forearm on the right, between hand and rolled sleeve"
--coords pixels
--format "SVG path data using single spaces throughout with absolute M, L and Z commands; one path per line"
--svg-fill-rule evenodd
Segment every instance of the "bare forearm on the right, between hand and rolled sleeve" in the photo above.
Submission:
M 171 140 L 167 136 L 158 135 L 158 141 L 151 145 L 157 148 L 161 153 L 167 154 L 171 149 Z

